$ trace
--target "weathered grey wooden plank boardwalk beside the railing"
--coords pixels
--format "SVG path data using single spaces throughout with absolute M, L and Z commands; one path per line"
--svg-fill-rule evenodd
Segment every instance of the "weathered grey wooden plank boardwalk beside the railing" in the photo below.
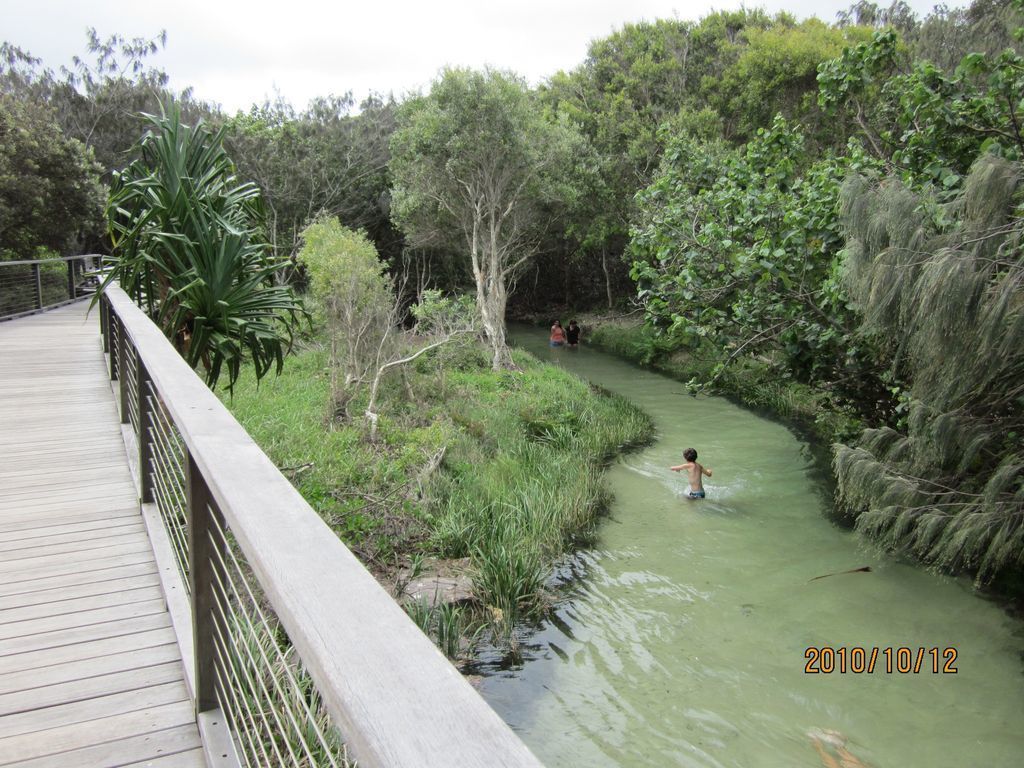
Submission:
M 0 766 L 205 766 L 85 308 L 0 323 Z

